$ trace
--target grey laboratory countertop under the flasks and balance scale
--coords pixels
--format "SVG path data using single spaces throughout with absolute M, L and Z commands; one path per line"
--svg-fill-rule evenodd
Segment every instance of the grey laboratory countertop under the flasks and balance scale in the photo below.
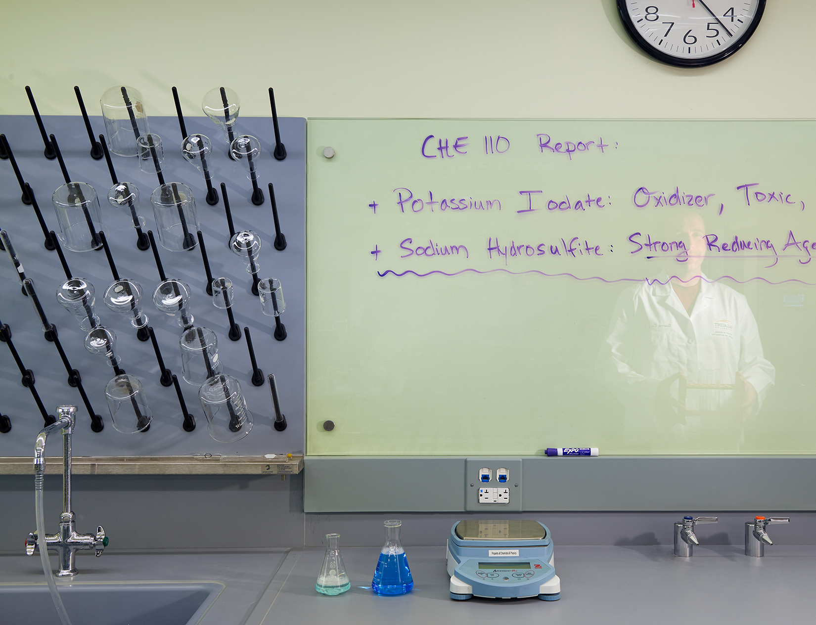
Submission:
M 78 558 L 76 583 L 132 580 L 201 580 L 224 591 L 200 623 L 468 623 L 508 618 L 547 623 L 687 623 L 800 620 L 814 613 L 816 547 L 765 548 L 765 557 L 743 555 L 742 546 L 694 547 L 676 558 L 671 546 L 558 547 L 561 600 L 453 601 L 445 547 L 407 547 L 415 580 L 403 596 L 370 590 L 379 547 L 341 545 L 352 588 L 339 596 L 314 589 L 324 549 L 255 549 L 128 554 Z M 53 560 L 52 560 L 53 561 Z M 0 585 L 43 583 L 36 557 L 0 557 Z M 63 582 L 60 582 L 63 583 Z M 578 615 L 578 616 L 576 616 Z M 0 619 L 2 620 L 2 619 Z

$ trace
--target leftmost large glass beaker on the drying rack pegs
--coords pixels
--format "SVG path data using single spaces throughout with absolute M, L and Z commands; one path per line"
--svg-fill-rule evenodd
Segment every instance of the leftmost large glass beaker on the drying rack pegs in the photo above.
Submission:
M 98 250 L 102 239 L 99 198 L 90 184 L 69 182 L 57 188 L 51 196 L 56 219 L 60 222 L 60 243 L 74 252 Z

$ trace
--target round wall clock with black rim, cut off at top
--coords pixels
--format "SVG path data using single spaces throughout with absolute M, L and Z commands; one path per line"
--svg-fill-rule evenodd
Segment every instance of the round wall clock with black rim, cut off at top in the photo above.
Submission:
M 629 35 L 664 63 L 700 67 L 743 47 L 765 0 L 618 0 Z

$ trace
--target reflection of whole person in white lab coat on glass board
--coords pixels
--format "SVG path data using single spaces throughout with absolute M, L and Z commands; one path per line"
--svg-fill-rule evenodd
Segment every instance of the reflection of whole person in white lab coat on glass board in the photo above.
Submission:
M 703 433 L 716 420 L 678 414 L 681 376 L 689 383 L 734 384 L 734 390 L 689 390 L 685 409 L 730 414 L 737 423 L 759 411 L 774 384 L 747 299 L 701 271 L 702 217 L 683 211 L 676 220 L 672 240 L 683 241 L 687 255 L 668 259 L 668 273 L 623 291 L 596 361 L 626 405 L 624 441 L 654 441 L 655 428 L 679 439 Z

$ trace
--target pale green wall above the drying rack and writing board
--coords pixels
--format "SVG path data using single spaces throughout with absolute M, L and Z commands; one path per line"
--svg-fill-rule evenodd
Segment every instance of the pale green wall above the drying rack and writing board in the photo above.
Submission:
M 98 114 L 124 83 L 152 115 L 175 113 L 173 85 L 193 114 L 223 84 L 243 115 L 267 115 L 274 86 L 300 117 L 814 116 L 811 0 L 770 0 L 751 42 L 707 69 L 641 54 L 614 0 L 5 0 L 0 16 L 6 114 L 30 113 L 26 84 L 44 114 L 78 114 L 75 84 Z

